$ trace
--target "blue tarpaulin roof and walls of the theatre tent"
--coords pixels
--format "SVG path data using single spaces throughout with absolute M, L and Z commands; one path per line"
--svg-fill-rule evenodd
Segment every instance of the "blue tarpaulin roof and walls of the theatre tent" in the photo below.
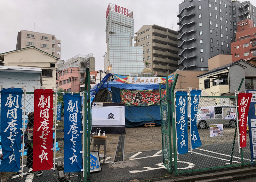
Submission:
M 95 90 L 97 85 L 91 89 L 91 93 Z M 120 89 L 127 90 L 159 90 L 158 84 L 128 84 L 120 82 L 107 82 L 101 87 L 112 91 L 112 102 L 121 102 Z M 166 89 L 166 85 L 161 86 Z M 154 106 L 125 106 L 125 126 L 134 127 L 143 125 L 145 123 L 156 123 L 161 125 L 160 105 Z

